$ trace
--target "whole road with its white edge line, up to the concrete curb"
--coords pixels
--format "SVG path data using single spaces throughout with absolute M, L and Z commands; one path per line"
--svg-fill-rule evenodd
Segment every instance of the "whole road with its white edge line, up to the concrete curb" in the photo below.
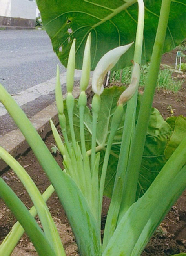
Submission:
M 57 64 L 60 61 L 44 30 L 0 30 L 0 83 L 29 117 L 55 101 L 52 78 Z M 66 74 L 61 64 L 60 74 Z M 0 137 L 15 128 L 0 104 Z

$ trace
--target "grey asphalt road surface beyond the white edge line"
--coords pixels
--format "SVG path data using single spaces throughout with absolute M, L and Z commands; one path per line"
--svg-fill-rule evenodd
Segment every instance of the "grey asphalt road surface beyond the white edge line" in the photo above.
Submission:
M 0 83 L 9 93 L 53 78 L 59 63 L 44 30 L 0 30 Z

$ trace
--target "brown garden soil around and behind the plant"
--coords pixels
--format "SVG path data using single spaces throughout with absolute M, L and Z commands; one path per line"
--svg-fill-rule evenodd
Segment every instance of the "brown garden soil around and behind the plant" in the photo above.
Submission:
M 162 64 L 173 67 L 175 62 L 175 54 L 176 51 L 164 54 Z M 174 73 L 173 76 L 175 76 L 177 79 L 184 80 L 182 89 L 177 94 L 163 89 L 159 91 L 157 90 L 154 98 L 153 106 L 159 109 L 164 119 L 166 119 L 166 117 L 170 117 L 171 115 L 186 116 L 186 73 Z M 89 95 L 89 98 L 91 98 L 91 94 Z M 47 135 L 45 143 L 50 150 L 55 145 L 55 141 L 51 134 Z M 57 152 L 54 157 L 59 165 L 62 166 L 61 155 Z M 44 190 L 49 186 L 50 182 L 38 164 L 33 152 L 31 150 L 27 150 L 24 155 L 18 157 L 18 161 L 26 169 L 31 178 L 33 178 L 34 182 L 38 186 L 38 189 L 43 193 Z M 27 208 L 30 209 L 32 204 L 29 196 L 13 171 L 11 169 L 6 169 L 1 176 L 15 191 L 18 197 L 26 204 Z M 73 237 L 73 233 L 69 226 L 66 214 L 55 193 L 53 193 L 53 195 L 49 198 L 47 205 L 51 211 L 55 223 L 57 224 L 57 228 L 60 232 L 60 236 L 66 250 L 66 255 L 78 256 L 78 249 Z M 104 230 L 104 223 L 106 220 L 108 207 L 109 199 L 105 197 L 102 211 L 102 233 Z M 15 221 L 16 220 L 11 211 L 0 199 L 0 243 L 9 233 Z M 37 219 L 37 221 L 39 220 Z M 144 249 L 142 256 L 164 256 L 173 255 L 180 252 L 186 252 L 186 191 L 184 191 L 182 196 L 177 200 L 176 204 L 171 208 L 164 221 L 160 224 L 154 236 Z M 29 238 L 26 236 L 26 234 L 24 234 L 12 255 L 37 256 L 38 254 L 36 253 L 32 243 L 29 241 Z

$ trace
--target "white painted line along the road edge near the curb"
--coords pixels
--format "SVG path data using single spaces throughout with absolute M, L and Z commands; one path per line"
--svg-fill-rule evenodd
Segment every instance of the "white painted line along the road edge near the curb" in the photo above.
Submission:
M 79 81 L 81 76 L 80 70 L 75 70 L 75 81 Z M 66 83 L 66 72 L 60 75 L 60 82 L 61 84 Z M 35 100 L 36 98 L 39 98 L 42 95 L 47 95 L 51 93 L 53 90 L 55 90 L 55 83 L 56 78 L 52 78 L 50 80 L 47 80 L 44 83 L 40 83 L 38 85 L 35 85 L 25 91 L 21 91 L 18 94 L 14 95 L 13 98 L 18 103 L 19 106 L 22 106 L 24 104 L 27 104 L 28 102 L 31 102 Z M 3 104 L 0 103 L 0 117 L 2 115 L 5 115 L 7 113 L 6 109 L 4 108 Z

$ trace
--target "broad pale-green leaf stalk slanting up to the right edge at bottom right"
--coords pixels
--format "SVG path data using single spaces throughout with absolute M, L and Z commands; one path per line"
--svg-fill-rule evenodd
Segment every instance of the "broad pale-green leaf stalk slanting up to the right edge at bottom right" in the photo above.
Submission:
M 186 137 L 161 169 L 146 193 L 122 215 L 103 256 L 139 256 L 153 232 L 186 187 Z M 138 243 L 139 242 L 139 243 Z M 138 243 L 138 245 L 137 245 Z M 123 245 L 126 244 L 126 247 Z M 137 253 L 133 249 L 136 247 Z

